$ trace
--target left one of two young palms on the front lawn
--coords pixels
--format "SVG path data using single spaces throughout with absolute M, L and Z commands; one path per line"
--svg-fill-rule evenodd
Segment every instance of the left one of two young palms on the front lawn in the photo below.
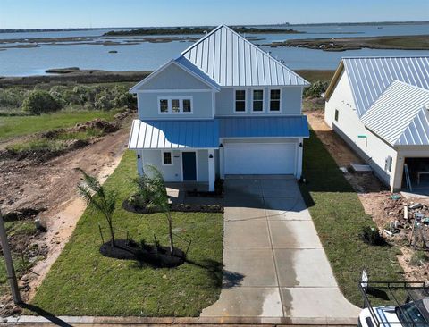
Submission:
M 109 225 L 109 231 L 111 236 L 111 247 L 114 247 L 114 206 L 116 204 L 116 197 L 113 191 L 105 189 L 97 178 L 88 175 L 80 168 L 76 168 L 77 171 L 83 174 L 83 181 L 78 184 L 78 191 L 80 197 L 83 197 L 87 201 L 88 205 L 95 208 L 98 212 L 103 214 L 107 224 Z

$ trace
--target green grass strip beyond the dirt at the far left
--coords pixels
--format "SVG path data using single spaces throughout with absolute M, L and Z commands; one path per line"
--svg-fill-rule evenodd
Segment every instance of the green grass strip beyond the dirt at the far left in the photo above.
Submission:
M 61 111 L 40 116 L 0 117 L 0 140 L 40 131 L 71 127 L 77 122 L 88 122 L 96 118 L 113 120 L 116 113 L 118 113 L 116 110 L 108 112 L 98 110 Z

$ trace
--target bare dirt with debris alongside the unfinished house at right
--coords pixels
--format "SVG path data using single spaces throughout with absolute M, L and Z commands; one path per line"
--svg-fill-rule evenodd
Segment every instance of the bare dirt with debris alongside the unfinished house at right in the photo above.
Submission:
M 316 135 L 324 143 L 324 147 L 332 155 L 332 158 L 340 167 L 349 167 L 350 164 L 365 164 L 365 162 L 324 122 L 324 112 L 306 112 L 308 122 Z M 409 247 L 409 235 L 412 230 L 414 212 L 417 210 L 426 216 L 429 215 L 429 200 L 416 198 L 392 199 L 391 192 L 372 173 L 350 173 L 344 174 L 349 183 L 357 191 L 359 200 L 364 206 L 366 214 L 373 217 L 378 228 L 383 231 L 390 222 L 399 222 L 399 229 L 393 236 L 383 231 L 383 236 L 393 245 L 400 248 L 402 252 L 398 261 L 404 270 L 405 279 L 408 281 L 428 281 L 429 263 L 419 265 L 411 264 L 411 258 L 415 250 Z M 404 219 L 404 205 L 422 204 L 421 208 L 410 210 L 408 219 Z M 426 230 L 429 228 L 426 227 Z M 425 232 L 427 232 L 425 230 Z M 429 233 L 426 234 L 429 240 Z

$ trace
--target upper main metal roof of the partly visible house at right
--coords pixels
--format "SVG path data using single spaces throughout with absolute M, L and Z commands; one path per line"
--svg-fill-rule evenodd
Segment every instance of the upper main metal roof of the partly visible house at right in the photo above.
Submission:
M 393 80 L 429 89 L 428 56 L 349 57 L 343 58 L 342 62 L 359 117 L 366 113 Z

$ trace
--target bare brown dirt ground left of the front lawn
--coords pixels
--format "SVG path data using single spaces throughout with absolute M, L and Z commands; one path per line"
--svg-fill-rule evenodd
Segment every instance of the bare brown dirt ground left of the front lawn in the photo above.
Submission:
M 86 205 L 76 192 L 81 174 L 75 168 L 80 167 L 104 181 L 121 161 L 127 146 L 129 126 L 130 119 L 127 118 L 122 121 L 120 130 L 98 139 L 88 147 L 46 162 L 27 159 L 0 161 L 2 212 L 10 213 L 22 208 L 44 209 L 37 217 L 46 225 L 47 231 L 37 233 L 31 243 L 45 248 L 46 256 L 20 281 L 24 300 L 29 300 L 34 295 L 35 289 L 60 255 L 85 210 Z M 22 239 L 14 240 L 21 241 Z M 4 303 L 3 300 L 1 302 Z M 0 314 L 3 315 L 1 311 L 0 309 Z

